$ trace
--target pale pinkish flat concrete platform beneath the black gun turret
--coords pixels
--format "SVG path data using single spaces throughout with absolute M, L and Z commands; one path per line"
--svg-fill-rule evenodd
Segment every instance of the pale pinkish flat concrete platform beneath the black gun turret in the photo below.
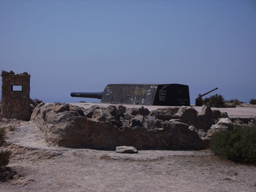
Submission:
M 99 107 L 108 107 L 109 105 L 116 105 L 119 104 L 107 104 L 107 103 L 69 103 L 72 105 L 77 105 L 79 107 L 83 108 L 89 108 L 92 105 L 98 105 Z M 125 107 L 141 107 L 142 105 L 130 105 L 130 104 L 123 104 Z M 143 107 L 148 108 L 148 110 L 155 110 L 158 108 L 164 108 L 168 106 L 153 106 L 153 105 L 143 105 Z M 201 112 L 203 107 L 194 107 L 198 112 Z M 227 112 L 229 117 L 232 116 L 239 116 L 239 117 L 256 117 L 256 107 L 236 107 L 236 108 L 217 108 L 217 107 L 211 107 L 211 110 L 220 110 L 220 112 Z

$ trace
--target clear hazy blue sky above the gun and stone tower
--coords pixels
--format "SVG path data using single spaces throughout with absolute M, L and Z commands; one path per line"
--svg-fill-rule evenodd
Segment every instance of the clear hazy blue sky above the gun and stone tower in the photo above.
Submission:
M 114 83 L 189 85 L 256 98 L 256 1 L 0 1 L 0 70 L 27 72 L 30 98 Z M 205 98 L 204 97 L 204 98 Z

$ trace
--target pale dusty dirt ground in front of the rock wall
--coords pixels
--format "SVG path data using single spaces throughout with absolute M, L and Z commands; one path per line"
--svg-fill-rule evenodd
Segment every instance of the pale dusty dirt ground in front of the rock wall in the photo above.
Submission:
M 19 125 L 17 125 L 19 124 Z M 15 122 L 1 149 L 12 151 L 14 179 L 0 191 L 256 191 L 256 167 L 214 156 L 209 150 L 71 149 L 45 144 L 30 122 Z

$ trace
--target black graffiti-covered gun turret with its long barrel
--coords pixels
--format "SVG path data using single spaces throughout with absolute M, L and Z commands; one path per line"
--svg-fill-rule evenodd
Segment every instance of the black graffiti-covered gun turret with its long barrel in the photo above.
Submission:
M 189 86 L 181 84 L 109 84 L 103 92 L 70 95 L 101 99 L 101 103 L 190 106 Z

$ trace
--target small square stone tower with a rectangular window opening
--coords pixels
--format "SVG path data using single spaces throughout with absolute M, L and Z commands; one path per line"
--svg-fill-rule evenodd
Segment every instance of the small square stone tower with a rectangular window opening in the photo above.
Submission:
M 2 70 L 2 112 L 0 119 L 30 120 L 30 75 Z M 18 85 L 18 86 L 17 86 Z

